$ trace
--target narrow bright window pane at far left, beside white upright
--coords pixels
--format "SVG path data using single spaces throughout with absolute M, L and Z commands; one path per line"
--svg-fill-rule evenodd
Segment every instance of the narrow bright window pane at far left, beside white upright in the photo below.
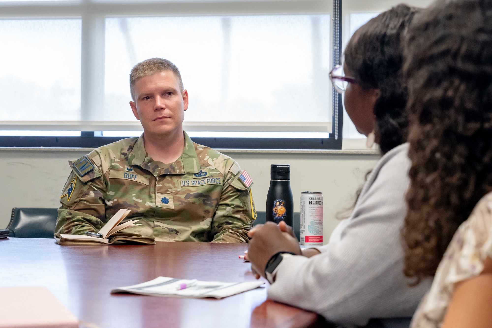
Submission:
M 0 20 L 0 121 L 80 120 L 80 19 Z

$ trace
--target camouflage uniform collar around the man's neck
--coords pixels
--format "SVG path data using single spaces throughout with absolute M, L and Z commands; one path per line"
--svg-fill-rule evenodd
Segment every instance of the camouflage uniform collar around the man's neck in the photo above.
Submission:
M 200 171 L 200 164 L 198 162 L 198 156 L 196 155 L 195 146 L 193 145 L 193 141 L 191 141 L 188 134 L 184 131 L 183 133 L 183 154 L 181 154 L 180 158 L 178 158 L 174 163 L 163 164 L 161 162 L 154 161 L 145 151 L 144 135 L 142 133 L 137 142 L 135 142 L 133 150 L 128 156 L 128 164 L 139 165 L 140 167 L 152 172 L 154 176 L 159 176 L 161 174 L 198 173 Z

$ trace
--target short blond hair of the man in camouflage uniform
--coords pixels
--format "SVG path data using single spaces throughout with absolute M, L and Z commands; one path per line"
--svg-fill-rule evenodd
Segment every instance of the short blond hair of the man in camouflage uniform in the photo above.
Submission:
M 130 72 L 130 94 L 133 101 L 135 101 L 135 83 L 141 77 L 160 73 L 166 70 L 170 70 L 174 73 L 180 83 L 180 91 L 183 92 L 183 80 L 181 79 L 181 73 L 178 67 L 163 58 L 150 58 L 135 65 Z

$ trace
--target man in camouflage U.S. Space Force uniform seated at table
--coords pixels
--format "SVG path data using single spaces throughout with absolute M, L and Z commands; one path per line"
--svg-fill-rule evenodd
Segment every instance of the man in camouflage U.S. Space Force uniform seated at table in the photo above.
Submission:
M 119 209 L 128 208 L 124 222 L 138 219 L 140 226 L 125 231 L 156 241 L 247 243 L 256 218 L 251 179 L 233 159 L 192 142 L 182 130 L 187 92 L 176 66 L 163 59 L 144 61 L 132 69 L 130 85 L 136 98 L 130 105 L 144 133 L 69 162 L 72 172 L 63 187 L 55 231 L 97 232 Z M 147 112 L 146 101 L 151 103 Z M 181 148 L 156 151 L 148 141 L 156 135 L 161 137 L 158 146 L 173 145 L 181 136 L 176 143 Z M 177 155 L 169 155 L 176 149 Z M 169 158 L 174 161 L 164 164 Z

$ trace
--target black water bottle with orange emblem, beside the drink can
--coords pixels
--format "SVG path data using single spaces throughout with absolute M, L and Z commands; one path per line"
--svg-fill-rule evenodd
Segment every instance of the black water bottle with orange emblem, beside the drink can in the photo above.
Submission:
M 270 165 L 270 189 L 267 195 L 267 221 L 285 221 L 292 227 L 294 200 L 290 189 L 290 165 Z

